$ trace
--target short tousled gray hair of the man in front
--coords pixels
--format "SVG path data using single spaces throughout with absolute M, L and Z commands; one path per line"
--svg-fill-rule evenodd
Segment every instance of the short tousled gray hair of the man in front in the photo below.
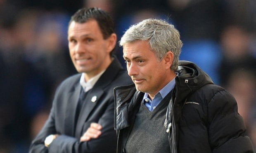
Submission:
M 161 19 L 145 19 L 130 26 L 121 37 L 119 45 L 123 46 L 137 40 L 149 41 L 152 51 L 160 61 L 168 51 L 173 52 L 174 59 L 171 70 L 177 71 L 183 44 L 179 31 L 172 24 Z

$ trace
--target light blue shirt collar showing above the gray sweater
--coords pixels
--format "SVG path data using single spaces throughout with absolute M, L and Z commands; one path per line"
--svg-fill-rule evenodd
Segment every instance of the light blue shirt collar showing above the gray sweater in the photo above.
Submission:
M 144 94 L 143 97 L 143 104 L 145 104 L 145 106 L 147 107 L 147 109 L 149 109 L 149 111 L 153 111 L 157 105 L 164 99 L 164 97 L 171 91 L 173 90 L 175 86 L 175 78 L 172 79 L 168 84 L 166 84 L 166 86 L 164 86 L 164 88 L 162 88 L 153 98 L 153 100 L 151 101 L 148 93 Z

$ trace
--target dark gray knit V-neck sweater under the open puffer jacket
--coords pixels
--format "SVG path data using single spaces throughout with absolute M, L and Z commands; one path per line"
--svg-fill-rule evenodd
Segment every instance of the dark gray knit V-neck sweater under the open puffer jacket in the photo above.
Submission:
M 163 100 L 151 112 L 141 104 L 126 143 L 126 153 L 170 153 L 168 133 L 164 128 L 167 106 L 168 100 Z

